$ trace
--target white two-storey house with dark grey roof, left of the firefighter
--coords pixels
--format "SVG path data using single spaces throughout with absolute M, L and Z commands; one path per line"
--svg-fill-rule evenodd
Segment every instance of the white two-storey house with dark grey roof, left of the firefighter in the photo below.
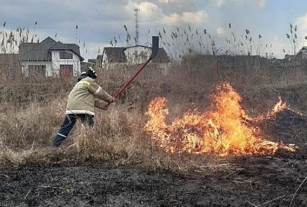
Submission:
M 81 73 L 79 46 L 47 37 L 39 43 L 19 45 L 19 60 L 26 76 L 78 76 Z

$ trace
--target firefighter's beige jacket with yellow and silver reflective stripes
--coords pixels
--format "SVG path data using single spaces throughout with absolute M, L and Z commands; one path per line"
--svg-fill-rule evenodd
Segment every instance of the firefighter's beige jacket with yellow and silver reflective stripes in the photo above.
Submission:
M 105 103 L 95 99 L 95 96 L 107 102 L 113 97 L 104 91 L 90 77 L 80 80 L 68 95 L 66 114 L 95 115 L 95 107 L 104 109 Z

